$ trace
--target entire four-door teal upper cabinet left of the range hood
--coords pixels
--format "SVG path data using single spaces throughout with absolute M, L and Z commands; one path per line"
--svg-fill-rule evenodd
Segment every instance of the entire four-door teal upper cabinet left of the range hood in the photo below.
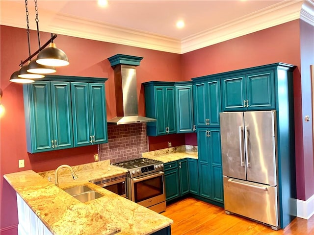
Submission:
M 24 85 L 27 152 L 107 142 L 105 81 L 47 75 Z

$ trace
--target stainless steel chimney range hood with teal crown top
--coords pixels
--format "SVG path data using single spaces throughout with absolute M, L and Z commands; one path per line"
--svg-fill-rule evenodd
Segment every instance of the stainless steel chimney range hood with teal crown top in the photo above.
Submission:
M 114 70 L 117 117 L 110 124 L 132 124 L 156 121 L 154 118 L 138 116 L 137 85 L 135 67 L 143 57 L 117 54 L 108 58 Z

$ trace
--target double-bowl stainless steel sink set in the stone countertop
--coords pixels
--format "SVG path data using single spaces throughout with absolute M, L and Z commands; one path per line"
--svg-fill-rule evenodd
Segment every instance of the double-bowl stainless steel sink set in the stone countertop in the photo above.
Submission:
M 103 194 L 95 192 L 93 191 L 92 188 L 89 188 L 84 185 L 66 188 L 63 189 L 63 191 L 69 193 L 71 196 L 73 196 L 74 198 L 78 199 L 81 202 L 88 202 L 104 196 Z

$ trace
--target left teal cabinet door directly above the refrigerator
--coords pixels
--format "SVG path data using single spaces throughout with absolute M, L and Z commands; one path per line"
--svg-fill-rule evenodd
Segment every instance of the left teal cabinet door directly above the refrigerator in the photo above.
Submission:
M 246 110 L 246 82 L 245 75 L 228 77 L 222 80 L 222 110 Z

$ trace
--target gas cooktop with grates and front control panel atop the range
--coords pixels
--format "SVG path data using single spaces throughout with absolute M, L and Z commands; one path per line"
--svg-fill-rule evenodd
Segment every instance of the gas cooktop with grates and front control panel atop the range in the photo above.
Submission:
M 149 158 L 132 159 L 120 163 L 114 163 L 113 165 L 128 169 L 131 178 L 157 171 L 163 171 L 163 162 Z

